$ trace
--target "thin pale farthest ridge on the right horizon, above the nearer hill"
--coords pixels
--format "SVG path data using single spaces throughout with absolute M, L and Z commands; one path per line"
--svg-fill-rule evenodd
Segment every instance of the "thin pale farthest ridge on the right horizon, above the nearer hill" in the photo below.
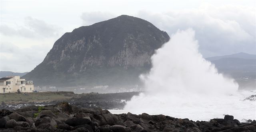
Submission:
M 207 60 L 219 60 L 221 58 L 243 58 L 243 59 L 256 59 L 256 54 L 247 54 L 244 52 L 236 53 L 236 54 L 230 54 L 230 55 L 224 55 L 224 56 L 214 56 L 206 58 Z

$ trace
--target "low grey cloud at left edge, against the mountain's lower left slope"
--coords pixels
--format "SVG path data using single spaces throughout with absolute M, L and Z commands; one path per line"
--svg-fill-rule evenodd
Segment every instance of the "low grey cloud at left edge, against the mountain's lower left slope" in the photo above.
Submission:
M 20 48 L 12 43 L 2 42 L 0 71 L 30 72 L 42 62 L 49 49 L 45 45 Z

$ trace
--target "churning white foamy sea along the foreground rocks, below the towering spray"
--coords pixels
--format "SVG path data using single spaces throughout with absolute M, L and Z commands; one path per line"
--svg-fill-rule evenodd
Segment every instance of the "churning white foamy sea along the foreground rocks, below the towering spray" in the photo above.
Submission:
M 175 118 L 189 118 L 190 120 L 209 121 L 213 118 L 224 118 L 224 115 L 233 115 L 240 122 L 248 119 L 256 120 L 256 101 L 243 101 L 250 95 L 256 95 L 256 91 L 239 90 L 236 95 L 226 97 L 226 99 L 216 99 L 215 101 L 198 101 L 187 103 L 178 103 L 176 105 L 169 104 L 169 101 L 159 100 L 158 97 L 150 97 L 155 99 L 159 105 L 154 106 L 155 102 L 148 100 L 145 105 L 138 104 L 136 109 L 126 106 L 123 110 L 109 110 L 112 114 L 133 113 L 136 115 L 148 113 L 150 115 L 168 115 Z M 143 97 L 143 96 L 141 96 Z M 134 98 L 141 98 L 134 97 Z M 144 98 L 145 100 L 147 98 Z M 167 99 L 172 99 L 167 98 Z M 177 99 L 175 99 L 177 101 Z M 150 105 L 151 104 L 151 105 Z M 150 106 L 147 106 L 150 105 Z M 246 119 L 246 120 L 244 120 Z

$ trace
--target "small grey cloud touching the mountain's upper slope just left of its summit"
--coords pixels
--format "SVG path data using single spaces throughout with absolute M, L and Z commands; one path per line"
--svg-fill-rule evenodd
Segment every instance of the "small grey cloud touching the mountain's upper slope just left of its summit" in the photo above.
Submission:
M 108 12 L 84 12 L 81 16 L 84 25 L 92 25 L 100 21 L 116 17 L 114 14 Z

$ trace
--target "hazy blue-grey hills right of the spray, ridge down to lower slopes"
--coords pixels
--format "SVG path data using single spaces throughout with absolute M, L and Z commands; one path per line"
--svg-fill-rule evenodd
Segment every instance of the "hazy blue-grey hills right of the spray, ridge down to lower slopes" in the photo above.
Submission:
M 256 88 L 256 55 L 237 53 L 206 58 L 215 64 L 218 72 L 230 76 L 238 82 L 241 89 Z

